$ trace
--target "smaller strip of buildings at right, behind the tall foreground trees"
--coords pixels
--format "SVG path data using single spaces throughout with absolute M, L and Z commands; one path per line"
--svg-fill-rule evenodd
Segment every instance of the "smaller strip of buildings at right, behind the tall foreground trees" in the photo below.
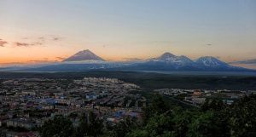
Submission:
M 181 89 L 181 88 L 161 88 L 155 89 L 154 92 L 165 94 L 176 100 L 181 100 L 185 103 L 200 106 L 207 99 L 218 98 L 224 103 L 231 105 L 234 100 L 241 98 L 244 95 L 256 94 L 256 90 L 203 90 L 203 89 Z

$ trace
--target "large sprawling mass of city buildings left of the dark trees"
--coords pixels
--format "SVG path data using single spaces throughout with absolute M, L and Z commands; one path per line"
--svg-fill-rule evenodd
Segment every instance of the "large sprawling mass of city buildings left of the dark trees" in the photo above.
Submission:
M 141 119 L 147 100 L 131 94 L 139 90 L 136 84 L 106 77 L 2 79 L 0 130 L 9 137 L 38 136 L 37 128 L 55 115 L 72 117 L 78 125 L 78 116 L 89 111 L 106 123 Z

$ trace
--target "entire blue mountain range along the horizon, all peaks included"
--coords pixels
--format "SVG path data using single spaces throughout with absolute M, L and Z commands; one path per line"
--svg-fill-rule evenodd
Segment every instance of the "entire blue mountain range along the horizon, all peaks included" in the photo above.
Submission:
M 6 69 L 5 69 L 6 70 Z M 16 69 L 17 70 L 17 69 Z M 19 69 L 18 69 L 19 70 Z M 88 71 L 88 70 L 125 70 L 125 71 L 253 71 L 242 67 L 230 66 L 211 56 L 191 60 L 186 56 L 165 53 L 157 58 L 136 62 L 109 62 L 92 53 L 89 49 L 79 51 L 59 63 L 49 66 L 20 68 L 20 71 Z M 0 70 L 1 71 L 1 70 Z

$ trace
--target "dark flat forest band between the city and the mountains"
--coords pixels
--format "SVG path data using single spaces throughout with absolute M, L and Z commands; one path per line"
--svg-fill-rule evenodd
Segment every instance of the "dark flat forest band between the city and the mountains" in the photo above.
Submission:
M 195 74 L 196 71 L 192 72 Z M 76 72 L 0 72 L 1 78 L 67 78 L 81 79 L 84 77 L 118 78 L 128 83 L 136 83 L 142 88 L 201 88 L 201 89 L 255 89 L 255 76 L 200 76 L 182 74 L 160 74 L 138 71 L 76 71 Z M 61 83 L 68 83 L 64 81 Z

